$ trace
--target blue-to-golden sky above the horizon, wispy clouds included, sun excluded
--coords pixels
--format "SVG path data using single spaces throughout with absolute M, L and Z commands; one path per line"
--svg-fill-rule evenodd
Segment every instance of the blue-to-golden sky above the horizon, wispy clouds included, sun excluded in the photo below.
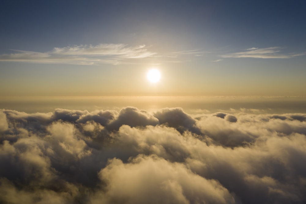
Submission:
M 304 0 L 2 1 L 0 95 L 306 95 L 305 10 Z

